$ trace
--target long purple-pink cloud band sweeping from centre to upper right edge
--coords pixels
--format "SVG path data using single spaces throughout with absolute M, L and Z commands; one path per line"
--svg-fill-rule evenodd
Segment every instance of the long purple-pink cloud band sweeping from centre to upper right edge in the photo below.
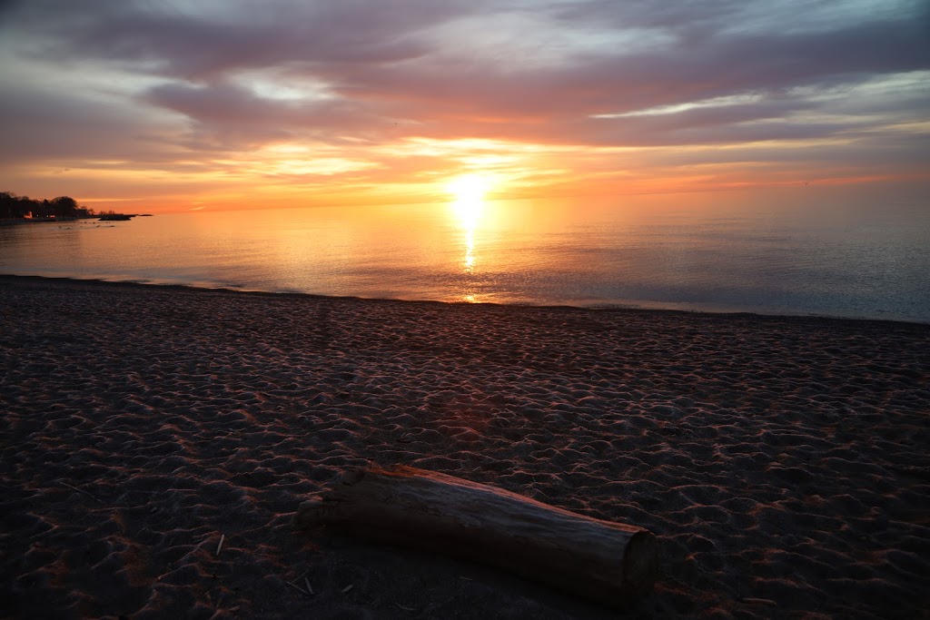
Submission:
M 927 68 L 930 46 L 919 26 L 887 23 L 834 33 L 739 37 L 639 55 L 619 51 L 527 73 L 466 64 L 450 75 L 442 65 L 424 63 L 361 66 L 348 74 L 367 97 L 435 99 L 440 110 L 491 116 L 631 112 Z

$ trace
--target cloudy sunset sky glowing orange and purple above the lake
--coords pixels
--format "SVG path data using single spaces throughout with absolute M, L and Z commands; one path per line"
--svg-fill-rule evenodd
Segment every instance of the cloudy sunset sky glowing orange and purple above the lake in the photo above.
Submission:
M 0 191 L 151 211 L 930 179 L 927 0 L 0 0 Z

